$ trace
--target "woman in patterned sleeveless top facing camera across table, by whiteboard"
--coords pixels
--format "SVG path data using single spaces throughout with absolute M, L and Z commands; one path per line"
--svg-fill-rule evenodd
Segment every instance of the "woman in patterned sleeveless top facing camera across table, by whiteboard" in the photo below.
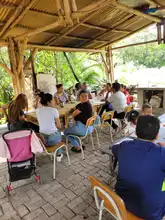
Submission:
M 56 105 L 60 105 L 61 103 L 68 102 L 68 96 L 64 92 L 64 88 L 62 84 L 56 85 L 57 92 L 54 95 Z

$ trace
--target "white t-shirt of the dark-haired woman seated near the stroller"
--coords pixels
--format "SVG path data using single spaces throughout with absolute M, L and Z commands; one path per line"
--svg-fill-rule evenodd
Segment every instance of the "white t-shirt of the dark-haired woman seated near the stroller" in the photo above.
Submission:
M 59 118 L 59 113 L 56 108 L 37 108 L 36 114 L 41 133 L 52 134 L 57 131 L 55 119 Z

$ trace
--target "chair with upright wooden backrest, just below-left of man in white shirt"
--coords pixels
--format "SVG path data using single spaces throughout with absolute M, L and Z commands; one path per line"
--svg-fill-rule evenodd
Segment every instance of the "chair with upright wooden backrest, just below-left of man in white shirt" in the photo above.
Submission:
M 113 142 L 113 135 L 112 135 L 112 120 L 114 117 L 114 111 L 109 111 L 109 112 L 105 112 L 102 114 L 101 117 L 101 131 L 105 128 L 105 127 L 109 127 L 109 133 L 110 133 L 110 137 L 111 137 L 111 141 Z M 108 121 L 111 121 L 111 123 L 109 123 Z

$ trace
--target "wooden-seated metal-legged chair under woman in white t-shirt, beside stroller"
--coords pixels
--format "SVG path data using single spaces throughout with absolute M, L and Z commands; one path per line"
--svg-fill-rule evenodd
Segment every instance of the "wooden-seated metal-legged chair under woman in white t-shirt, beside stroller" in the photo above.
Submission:
M 40 140 L 41 141 L 41 140 Z M 51 147 L 46 147 L 43 142 L 41 141 L 42 143 L 42 146 L 43 146 L 43 149 L 44 149 L 44 152 L 49 155 L 49 156 L 53 156 L 53 179 L 56 179 L 56 156 L 57 156 L 57 151 L 59 149 L 62 149 L 63 147 L 65 147 L 66 149 L 66 154 L 67 154 L 67 157 L 68 157 L 68 163 L 69 163 L 69 166 L 71 165 L 70 163 L 70 157 L 69 157 L 69 152 L 68 152 L 68 147 L 65 143 L 63 142 L 60 142 L 54 146 L 51 146 Z

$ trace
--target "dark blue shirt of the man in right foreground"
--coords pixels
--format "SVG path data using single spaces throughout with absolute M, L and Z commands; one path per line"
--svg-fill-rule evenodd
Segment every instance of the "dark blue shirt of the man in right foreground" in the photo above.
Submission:
M 124 141 L 112 147 L 119 163 L 115 190 L 126 208 L 145 220 L 165 216 L 165 147 L 142 140 Z

